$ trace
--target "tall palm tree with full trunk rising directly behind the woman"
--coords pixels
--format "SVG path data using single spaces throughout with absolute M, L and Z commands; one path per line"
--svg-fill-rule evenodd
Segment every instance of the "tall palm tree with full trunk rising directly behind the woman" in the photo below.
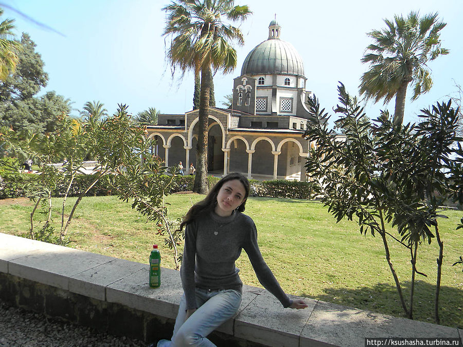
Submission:
M 167 57 L 172 67 L 201 73 L 198 122 L 198 149 L 193 191 L 205 194 L 207 187 L 207 126 L 211 70 L 233 71 L 236 50 L 232 41 L 243 45 L 240 29 L 226 23 L 245 20 L 252 12 L 247 6 L 235 6 L 234 0 L 174 0 L 167 12 L 163 35 L 171 36 Z

